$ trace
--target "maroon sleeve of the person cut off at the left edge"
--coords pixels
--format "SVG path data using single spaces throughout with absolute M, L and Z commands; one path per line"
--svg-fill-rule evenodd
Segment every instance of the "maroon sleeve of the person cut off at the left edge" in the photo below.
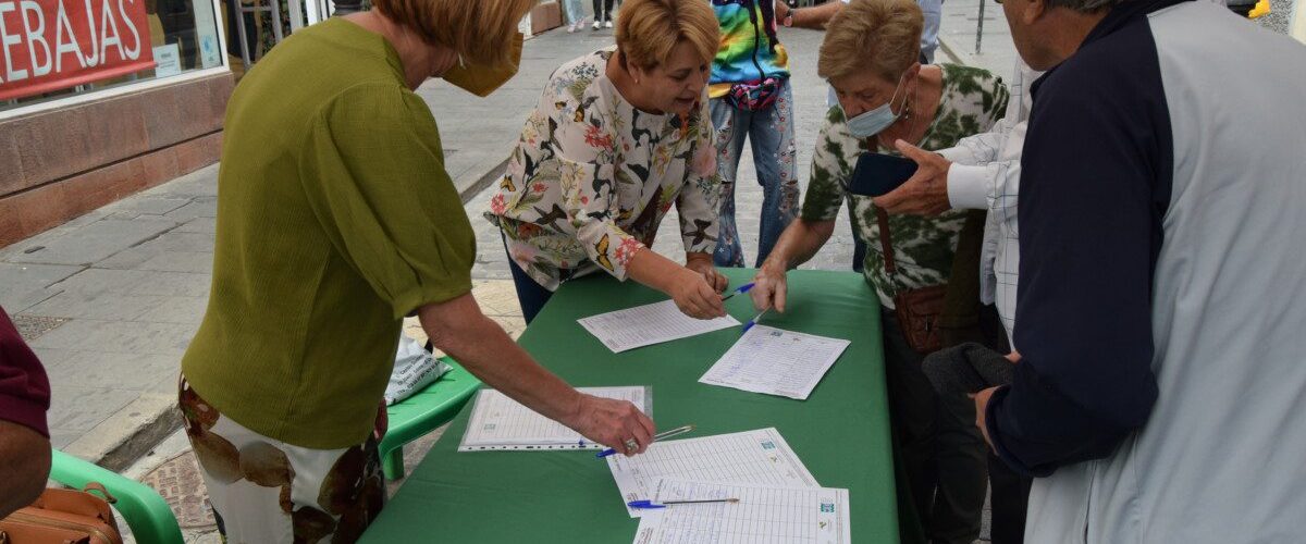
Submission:
M 37 354 L 22 342 L 9 314 L 0 308 L 0 419 L 30 427 L 50 437 L 50 380 Z

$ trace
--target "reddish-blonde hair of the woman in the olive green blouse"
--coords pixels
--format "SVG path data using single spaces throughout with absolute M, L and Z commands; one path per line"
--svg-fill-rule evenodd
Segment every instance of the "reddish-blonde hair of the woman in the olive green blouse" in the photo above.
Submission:
M 372 0 L 372 7 L 426 43 L 444 46 L 470 64 L 509 63 L 517 23 L 535 0 Z

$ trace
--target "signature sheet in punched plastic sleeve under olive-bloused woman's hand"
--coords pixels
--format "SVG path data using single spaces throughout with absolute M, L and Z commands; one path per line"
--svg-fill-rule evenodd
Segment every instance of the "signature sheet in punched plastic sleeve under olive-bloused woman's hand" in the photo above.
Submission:
M 650 414 L 649 387 L 577 387 L 594 397 L 629 400 L 644 414 Z M 477 393 L 468 431 L 458 451 L 488 450 L 597 450 L 602 445 L 585 440 L 580 433 L 545 417 L 494 389 Z

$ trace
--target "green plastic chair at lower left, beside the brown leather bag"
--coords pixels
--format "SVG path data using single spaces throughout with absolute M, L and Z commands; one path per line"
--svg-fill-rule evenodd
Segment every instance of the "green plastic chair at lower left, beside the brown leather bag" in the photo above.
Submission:
M 118 498 L 114 509 L 123 514 L 138 543 L 184 543 L 182 527 L 176 524 L 172 509 L 149 485 L 59 450 L 54 450 L 50 479 L 74 489 L 81 489 L 91 481 L 104 485 L 104 489 Z

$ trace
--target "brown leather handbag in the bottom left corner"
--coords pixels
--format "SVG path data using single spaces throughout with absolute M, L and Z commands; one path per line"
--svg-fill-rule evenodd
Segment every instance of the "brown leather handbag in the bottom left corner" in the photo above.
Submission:
M 93 491 L 104 498 L 91 494 Z M 46 489 L 37 502 L 0 519 L 0 544 L 123 544 L 108 507 L 115 501 L 97 483 L 86 484 L 82 491 Z

